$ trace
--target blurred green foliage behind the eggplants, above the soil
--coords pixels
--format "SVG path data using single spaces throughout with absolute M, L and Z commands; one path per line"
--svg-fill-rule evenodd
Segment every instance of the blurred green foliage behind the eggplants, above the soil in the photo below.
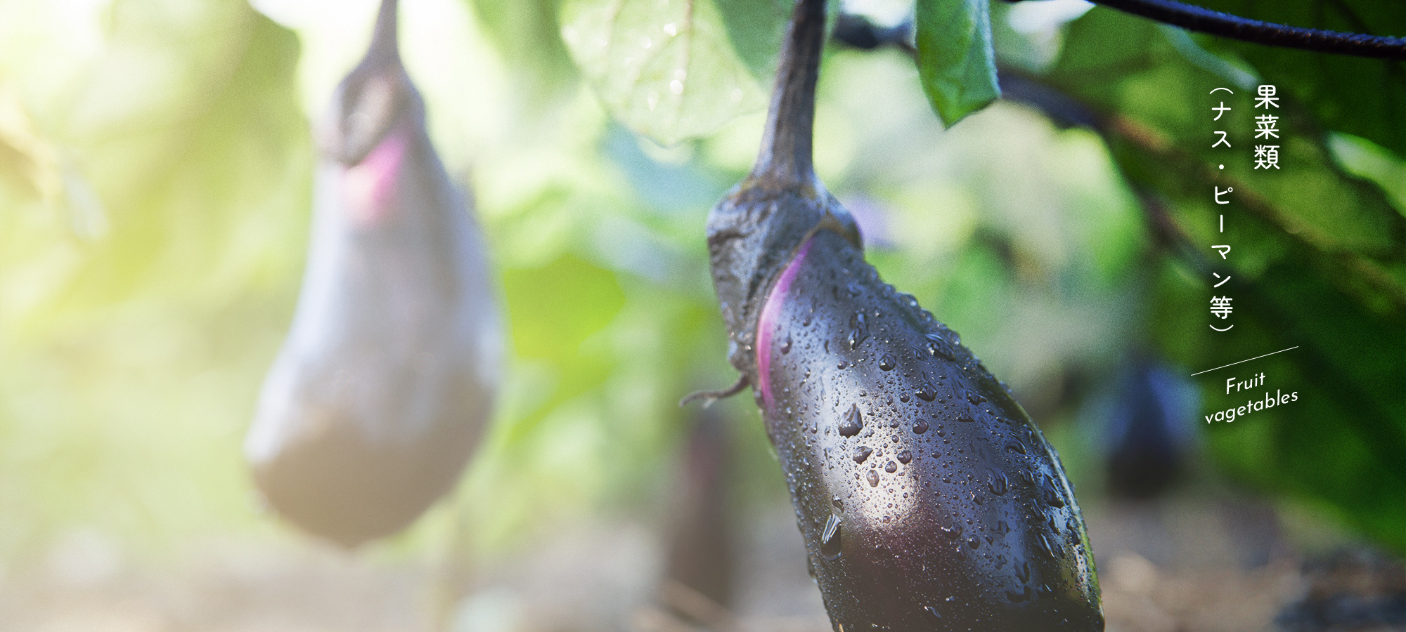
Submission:
M 381 551 L 657 521 L 692 414 L 679 397 L 734 379 L 702 228 L 755 157 L 787 3 L 402 4 L 405 62 L 477 198 L 513 361 L 456 497 Z M 911 11 L 852 4 L 890 24 Z M 1202 4 L 1406 24 L 1388 1 Z M 994 3 L 1008 100 L 946 131 L 911 58 L 832 46 L 821 180 L 884 279 L 1047 428 L 1081 500 L 1102 490 L 1098 402 L 1130 355 L 1189 375 L 1299 345 L 1244 371 L 1299 402 L 1185 421 L 1240 480 L 1406 548 L 1406 70 L 1088 7 Z M 0 565 L 42 563 L 75 534 L 149 559 L 292 536 L 260 514 L 240 440 L 297 299 L 309 121 L 373 14 L 370 0 L 0 3 Z M 1278 171 L 1251 170 L 1258 83 L 1282 97 Z M 1234 111 L 1213 128 L 1222 86 Z M 1209 149 L 1212 129 L 1234 149 Z M 1212 185 L 1236 190 L 1225 237 Z M 1212 260 L 1222 240 L 1234 251 Z M 1206 327 L 1212 270 L 1234 277 L 1229 334 Z M 1241 403 L 1225 376 L 1197 382 L 1202 414 Z M 755 407 L 720 406 L 740 503 L 785 503 Z

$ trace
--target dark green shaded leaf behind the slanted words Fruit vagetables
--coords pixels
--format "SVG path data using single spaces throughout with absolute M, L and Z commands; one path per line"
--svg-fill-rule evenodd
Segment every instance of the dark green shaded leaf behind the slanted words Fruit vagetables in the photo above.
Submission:
M 1406 327 L 1357 305 L 1323 278 L 1310 257 L 1285 257 L 1253 285 L 1230 292 L 1236 336 L 1208 345 L 1209 362 L 1298 347 L 1253 365 L 1198 376 L 1202 414 L 1294 393 L 1292 402 L 1234 423 L 1206 427 L 1225 466 L 1265 489 L 1315 499 L 1348 524 L 1406 551 L 1406 392 L 1400 389 Z M 1198 301 L 1199 302 L 1199 301 Z M 1198 305 L 1199 308 L 1199 305 Z M 1232 360 L 1233 358 L 1233 360 Z M 1226 393 L 1225 381 L 1265 374 L 1264 392 Z

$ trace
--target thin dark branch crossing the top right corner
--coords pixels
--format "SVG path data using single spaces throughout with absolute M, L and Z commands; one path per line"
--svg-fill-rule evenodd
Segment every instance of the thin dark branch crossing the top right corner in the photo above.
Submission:
M 1212 11 L 1173 0 L 1092 0 L 1097 4 L 1126 11 L 1223 38 L 1281 48 L 1302 48 L 1358 58 L 1406 59 L 1406 39 L 1358 32 L 1319 31 L 1263 22 L 1229 13 Z

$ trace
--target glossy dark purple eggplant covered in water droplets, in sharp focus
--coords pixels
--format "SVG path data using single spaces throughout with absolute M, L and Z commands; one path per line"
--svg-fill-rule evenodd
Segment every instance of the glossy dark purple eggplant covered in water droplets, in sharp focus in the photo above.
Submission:
M 707 235 L 734 389 L 762 409 L 834 629 L 1099 631 L 1054 449 L 956 333 L 879 278 L 814 174 L 824 4 L 796 3 L 761 156 Z

